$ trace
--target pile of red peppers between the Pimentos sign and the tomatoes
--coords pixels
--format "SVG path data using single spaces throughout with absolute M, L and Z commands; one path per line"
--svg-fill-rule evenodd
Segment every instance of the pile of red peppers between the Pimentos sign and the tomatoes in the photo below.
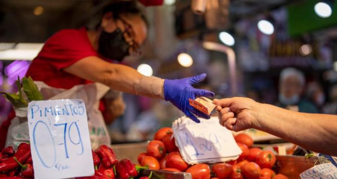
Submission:
M 92 151 L 95 166 L 94 176 L 77 177 L 76 179 L 129 179 L 139 175 L 142 169 L 140 165 L 133 164 L 129 159 L 117 160 L 113 149 L 106 145 L 101 145 L 97 150 Z M 149 177 L 142 177 L 146 179 Z

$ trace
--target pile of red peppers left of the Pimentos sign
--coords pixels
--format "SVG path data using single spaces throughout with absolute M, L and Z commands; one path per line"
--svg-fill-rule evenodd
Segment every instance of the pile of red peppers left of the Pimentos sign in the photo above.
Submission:
M 33 178 L 32 164 L 29 144 L 21 143 L 16 152 L 6 147 L 0 152 L 0 178 Z

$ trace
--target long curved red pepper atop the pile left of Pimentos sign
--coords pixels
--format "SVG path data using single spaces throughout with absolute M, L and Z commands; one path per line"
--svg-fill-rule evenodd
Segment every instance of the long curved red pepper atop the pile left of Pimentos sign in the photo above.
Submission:
M 14 157 L 20 163 L 24 163 L 30 155 L 31 153 L 29 144 L 21 143 L 13 156 L 0 163 L 0 172 L 9 171 L 19 166 L 19 164 L 14 160 Z

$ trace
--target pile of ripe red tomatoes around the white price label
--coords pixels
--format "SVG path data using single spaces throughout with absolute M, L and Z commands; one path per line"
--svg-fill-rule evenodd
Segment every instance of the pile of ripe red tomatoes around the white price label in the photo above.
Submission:
M 235 161 L 217 164 L 188 165 L 175 146 L 173 130 L 170 127 L 159 129 L 154 140 L 147 145 L 147 151 L 138 155 L 138 162 L 153 170 L 189 172 L 193 179 L 286 179 L 276 174 L 271 168 L 276 163 L 276 156 L 270 150 L 253 146 L 253 140 L 245 133 L 236 135 L 235 141 L 242 150 Z

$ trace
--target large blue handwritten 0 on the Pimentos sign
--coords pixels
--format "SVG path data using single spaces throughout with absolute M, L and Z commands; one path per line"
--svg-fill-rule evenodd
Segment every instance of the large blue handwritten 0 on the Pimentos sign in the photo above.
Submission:
M 46 126 L 46 128 L 48 129 L 48 132 L 49 132 L 49 136 L 50 136 L 50 138 L 51 138 L 52 141 L 53 141 L 54 161 L 53 161 L 53 163 L 52 163 L 51 165 L 47 165 L 47 164 L 46 164 L 46 162 L 41 158 L 41 155 L 40 155 L 40 153 L 39 153 L 39 151 L 38 151 L 38 149 L 37 149 L 37 147 L 36 147 L 36 138 L 35 138 L 35 136 L 36 136 L 36 128 L 38 128 L 38 126 L 41 126 L 41 125 L 38 125 L 38 124 L 41 124 L 42 126 Z M 42 127 L 42 126 L 41 126 L 41 127 Z M 43 135 L 43 136 L 44 136 L 44 135 Z M 46 135 L 46 136 L 48 136 L 48 135 Z M 35 124 L 35 126 L 34 126 L 34 129 L 33 129 L 33 143 L 34 143 L 34 148 L 35 148 L 35 150 L 36 150 L 37 156 L 38 156 L 38 158 L 40 159 L 42 165 L 43 165 L 44 167 L 46 167 L 46 168 L 51 168 L 51 167 L 53 167 L 53 166 L 55 165 L 55 162 L 56 162 L 56 147 L 55 147 L 55 141 L 54 141 L 54 138 L 53 138 L 53 136 L 52 136 L 52 132 L 50 131 L 48 125 L 47 125 L 45 122 L 43 122 L 43 121 L 37 121 L 37 122 L 36 122 L 36 124 Z

